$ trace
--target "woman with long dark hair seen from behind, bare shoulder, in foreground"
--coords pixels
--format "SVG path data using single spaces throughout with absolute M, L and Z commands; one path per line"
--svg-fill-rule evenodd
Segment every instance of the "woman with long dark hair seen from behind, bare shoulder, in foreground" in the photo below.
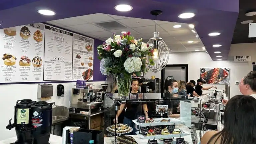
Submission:
M 208 131 L 201 139 L 201 144 L 255 143 L 256 99 L 246 95 L 236 95 L 227 102 L 222 131 Z

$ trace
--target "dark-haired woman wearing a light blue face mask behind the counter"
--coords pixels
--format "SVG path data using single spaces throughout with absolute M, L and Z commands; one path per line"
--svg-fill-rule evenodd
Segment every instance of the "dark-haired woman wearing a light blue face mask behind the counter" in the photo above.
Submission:
M 169 79 L 169 80 L 166 79 L 164 88 L 166 90 L 166 93 L 173 94 L 173 96 L 179 91 L 178 82 L 174 79 Z M 168 104 L 168 108 L 172 109 L 172 114 L 169 115 L 170 117 L 180 117 L 180 101 L 170 102 Z

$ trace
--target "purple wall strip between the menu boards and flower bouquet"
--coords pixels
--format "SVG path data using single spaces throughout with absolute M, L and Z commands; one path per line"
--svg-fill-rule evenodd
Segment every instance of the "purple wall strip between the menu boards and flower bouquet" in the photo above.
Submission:
M 103 41 L 94 39 L 94 46 L 93 46 L 93 81 L 105 81 L 106 76 L 102 75 L 100 72 L 100 60 L 98 59 L 98 52 L 97 52 L 97 47 L 98 45 L 101 45 Z

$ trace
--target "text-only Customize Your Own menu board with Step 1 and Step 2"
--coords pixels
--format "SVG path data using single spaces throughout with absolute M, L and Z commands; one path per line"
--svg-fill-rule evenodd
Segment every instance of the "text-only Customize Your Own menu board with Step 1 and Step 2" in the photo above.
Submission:
M 45 25 L 44 80 L 72 80 L 73 33 Z

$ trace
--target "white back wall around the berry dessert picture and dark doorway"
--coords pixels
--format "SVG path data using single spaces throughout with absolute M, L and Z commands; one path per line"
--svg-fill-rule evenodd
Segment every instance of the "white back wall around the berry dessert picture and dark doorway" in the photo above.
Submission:
M 251 62 L 234 62 L 233 56 L 250 55 Z M 256 43 L 231 44 L 229 60 L 213 61 L 206 52 L 184 52 L 171 53 L 168 64 L 188 64 L 188 80 L 197 80 L 202 67 L 229 67 L 230 68 L 230 96 L 240 94 L 235 81 L 240 81 L 249 71 L 252 70 L 252 62 L 256 62 Z M 161 78 L 161 71 L 156 74 L 149 72 L 146 78 L 152 75 Z M 207 86 L 207 84 L 204 84 Z M 216 85 L 218 89 L 224 89 L 224 85 Z

